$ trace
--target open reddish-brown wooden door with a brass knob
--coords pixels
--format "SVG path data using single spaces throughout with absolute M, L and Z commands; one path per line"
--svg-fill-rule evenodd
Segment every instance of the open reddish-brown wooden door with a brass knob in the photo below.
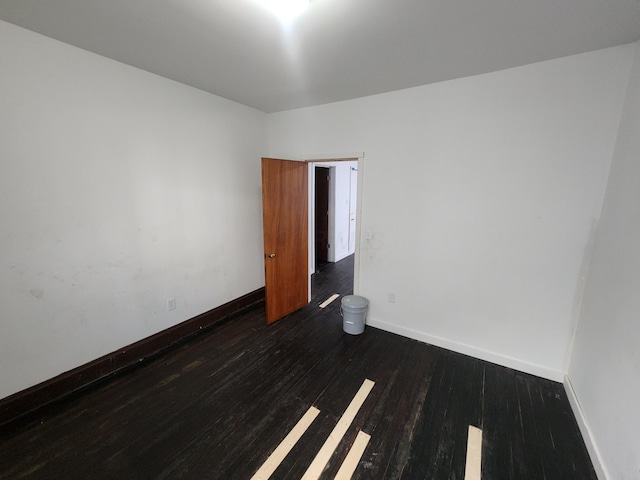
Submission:
M 262 159 L 267 323 L 309 301 L 307 164 Z

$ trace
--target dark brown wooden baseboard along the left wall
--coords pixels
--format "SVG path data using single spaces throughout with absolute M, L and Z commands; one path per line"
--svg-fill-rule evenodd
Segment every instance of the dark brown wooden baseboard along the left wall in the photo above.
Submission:
M 0 400 L 0 427 L 165 352 L 264 300 L 264 287 Z

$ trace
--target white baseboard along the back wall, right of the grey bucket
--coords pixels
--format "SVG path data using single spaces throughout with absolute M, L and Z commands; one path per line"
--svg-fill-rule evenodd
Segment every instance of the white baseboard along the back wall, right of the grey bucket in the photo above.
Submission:
M 446 338 L 437 337 L 435 335 L 430 335 L 425 332 L 406 328 L 395 323 L 384 322 L 376 318 L 367 317 L 366 323 L 367 325 L 371 325 L 372 327 L 380 328 L 392 333 L 397 333 L 398 335 L 402 335 L 403 337 L 420 340 L 421 342 L 429 343 L 437 347 L 446 348 L 447 350 L 452 350 L 464 355 L 469 355 L 480 360 L 486 360 L 487 362 L 502 365 L 503 367 L 512 368 L 520 372 L 529 373 L 537 377 L 553 380 L 554 382 L 562 383 L 562 381 L 564 380 L 564 373 L 559 370 L 553 370 L 541 365 L 523 362 L 522 360 L 518 360 L 516 358 L 507 357 L 505 355 L 500 355 L 487 350 L 482 350 L 465 343 L 455 342 Z

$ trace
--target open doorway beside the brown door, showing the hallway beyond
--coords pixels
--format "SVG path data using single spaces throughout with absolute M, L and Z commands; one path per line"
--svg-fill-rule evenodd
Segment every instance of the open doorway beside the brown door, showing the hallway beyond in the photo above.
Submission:
M 318 160 L 309 168 L 309 274 L 349 265 L 354 283 L 358 224 L 358 158 Z M 344 265 L 343 265 L 344 264 Z M 314 297 L 310 282 L 310 299 Z

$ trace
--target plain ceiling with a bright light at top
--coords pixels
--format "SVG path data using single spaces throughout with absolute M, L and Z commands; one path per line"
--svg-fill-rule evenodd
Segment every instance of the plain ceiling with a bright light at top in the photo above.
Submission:
M 640 39 L 640 0 L 0 0 L 0 19 L 265 112 Z

